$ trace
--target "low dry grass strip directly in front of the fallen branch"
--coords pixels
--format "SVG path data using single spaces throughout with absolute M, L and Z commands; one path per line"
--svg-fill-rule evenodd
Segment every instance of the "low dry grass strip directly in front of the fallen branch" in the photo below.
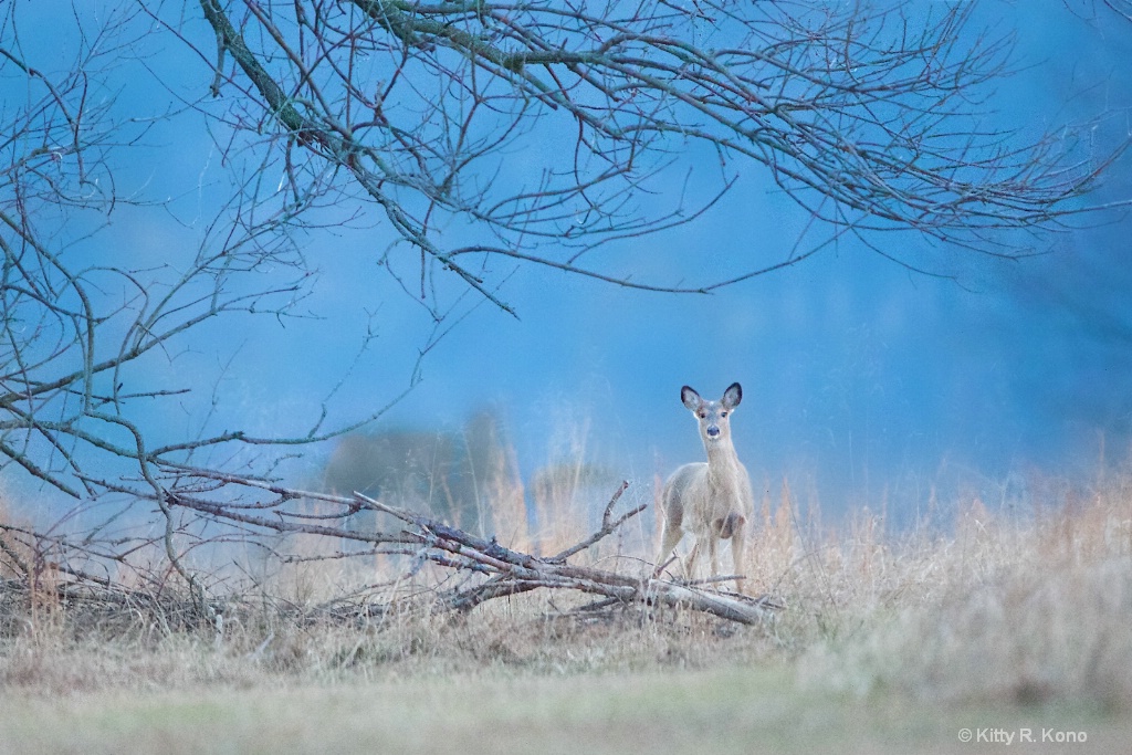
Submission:
M 756 663 L 774 654 L 763 627 L 644 607 L 568 612 L 580 602 L 534 593 L 469 614 L 412 606 L 358 623 L 298 621 L 265 604 L 258 615 L 230 612 L 222 642 L 204 629 L 171 630 L 140 611 L 94 617 L 59 607 L 17 623 L 0 641 L 0 695 L 705 669 L 724 657 Z

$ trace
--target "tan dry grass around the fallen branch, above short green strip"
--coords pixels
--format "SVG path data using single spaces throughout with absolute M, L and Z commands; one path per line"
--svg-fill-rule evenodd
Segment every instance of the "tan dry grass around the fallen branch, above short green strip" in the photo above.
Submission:
M 495 525 L 534 552 L 584 534 L 593 505 L 604 503 L 578 505 L 586 472 L 566 467 L 544 490 L 532 486 L 528 527 L 522 490 L 505 469 L 500 463 L 483 489 L 500 501 Z M 635 489 L 641 496 L 651 487 Z M 789 481 L 766 489 L 751 527 L 749 583 L 788 608 L 762 626 L 648 606 L 580 614 L 584 597 L 548 591 L 439 612 L 398 601 L 462 577 L 430 567 L 406 576 L 403 557 L 333 558 L 340 543 L 308 538 L 276 543 L 295 557 L 290 563 L 245 568 L 255 589 L 233 601 L 220 640 L 179 628 L 169 603 L 93 611 L 58 590 L 22 587 L 8 569 L 0 688 L 57 694 L 778 664 L 806 688 L 1011 704 L 1072 698 L 1132 710 L 1132 475 L 1026 512 L 952 501 L 947 526 L 899 533 L 883 501 L 878 512 L 830 526 L 812 494 L 803 507 Z M 644 575 L 654 535 L 634 526 L 611 551 L 586 558 Z M 403 610 L 380 618 L 318 610 L 367 600 Z

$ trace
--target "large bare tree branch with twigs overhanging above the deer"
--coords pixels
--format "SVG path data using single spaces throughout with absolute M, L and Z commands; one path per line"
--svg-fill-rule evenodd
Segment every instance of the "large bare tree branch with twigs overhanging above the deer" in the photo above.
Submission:
M 1032 241 L 1004 231 L 1055 229 L 1115 156 L 1074 163 L 1061 132 L 1026 141 L 986 126 L 1011 40 L 975 27 L 972 3 L 921 17 L 868 3 L 655 0 L 243 7 L 233 23 L 233 10 L 201 0 L 261 97 L 260 122 L 346 171 L 422 260 L 508 311 L 462 258 L 684 292 L 791 264 L 694 286 L 576 264 L 694 218 L 702 207 L 657 212 L 634 196 L 697 143 L 719 156 L 724 190 L 754 162 L 834 228 L 909 230 L 1007 257 Z M 278 61 L 272 72 L 267 59 Z M 572 162 L 514 168 L 507 155 L 539 138 L 569 145 Z M 439 233 L 460 217 L 499 243 L 446 251 Z

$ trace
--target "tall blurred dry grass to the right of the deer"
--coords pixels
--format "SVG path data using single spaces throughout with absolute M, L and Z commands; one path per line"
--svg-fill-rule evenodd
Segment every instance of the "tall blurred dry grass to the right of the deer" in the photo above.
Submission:
M 947 535 L 874 543 L 859 530 L 823 560 L 823 607 L 843 636 L 805 650 L 806 684 L 1132 709 L 1129 478 L 1022 514 L 976 499 Z

